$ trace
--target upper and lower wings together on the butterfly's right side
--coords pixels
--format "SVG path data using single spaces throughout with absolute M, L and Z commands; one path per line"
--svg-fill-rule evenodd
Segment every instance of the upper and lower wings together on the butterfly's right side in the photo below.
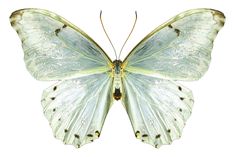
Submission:
M 203 76 L 223 24 L 219 11 L 186 11 L 152 31 L 126 57 L 122 102 L 137 138 L 160 147 L 181 136 L 193 95 L 173 80 Z

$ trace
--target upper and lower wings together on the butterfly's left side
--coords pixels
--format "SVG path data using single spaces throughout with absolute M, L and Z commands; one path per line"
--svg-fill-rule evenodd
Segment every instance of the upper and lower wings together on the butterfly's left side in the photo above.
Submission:
M 29 72 L 62 80 L 43 92 L 42 106 L 54 136 L 80 147 L 98 138 L 112 103 L 111 60 L 83 31 L 41 9 L 12 13 Z

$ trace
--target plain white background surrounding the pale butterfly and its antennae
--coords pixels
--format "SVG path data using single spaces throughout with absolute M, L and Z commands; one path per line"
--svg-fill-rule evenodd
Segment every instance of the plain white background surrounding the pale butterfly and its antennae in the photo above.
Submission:
M 0 0 L 0 156 L 236 156 L 236 10 L 233 0 Z M 111 108 L 101 137 L 80 149 L 53 137 L 40 104 L 41 93 L 53 82 L 36 81 L 25 68 L 20 40 L 11 28 L 11 12 L 37 7 L 51 10 L 89 34 L 114 59 L 102 31 L 99 11 L 117 50 L 122 46 L 138 11 L 138 22 L 122 58 L 147 33 L 172 16 L 192 8 L 225 13 L 207 74 L 183 83 L 195 97 L 193 114 L 182 138 L 155 149 L 136 140 L 121 102 Z

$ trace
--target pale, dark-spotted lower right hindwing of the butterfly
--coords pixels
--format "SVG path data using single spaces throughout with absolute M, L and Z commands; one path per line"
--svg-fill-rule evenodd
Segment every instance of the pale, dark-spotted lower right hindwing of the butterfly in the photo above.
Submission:
M 135 136 L 155 147 L 181 136 L 193 105 L 192 92 L 163 79 L 126 73 L 122 102 Z

